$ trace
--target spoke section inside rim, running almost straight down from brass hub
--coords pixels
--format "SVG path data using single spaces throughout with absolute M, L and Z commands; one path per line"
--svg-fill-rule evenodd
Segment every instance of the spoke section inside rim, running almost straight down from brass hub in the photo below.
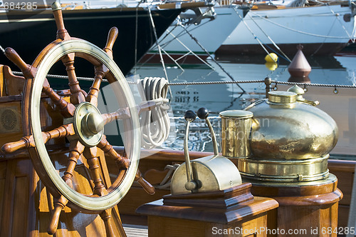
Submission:
M 84 149 L 84 156 L 88 161 L 89 169 L 93 175 L 94 191 L 93 193 L 98 196 L 105 196 L 108 194 L 108 190 L 103 184 L 103 180 L 100 177 L 100 163 L 98 158 L 98 148 L 96 146 L 87 147 Z

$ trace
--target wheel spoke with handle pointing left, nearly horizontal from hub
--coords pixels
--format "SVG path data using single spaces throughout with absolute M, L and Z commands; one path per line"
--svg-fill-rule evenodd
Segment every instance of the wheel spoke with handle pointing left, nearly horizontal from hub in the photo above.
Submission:
M 62 138 L 65 136 L 72 136 L 75 134 L 73 123 L 68 123 L 63 126 L 59 126 L 56 129 L 51 131 L 43 131 L 42 138 L 43 143 L 47 143 L 49 140 L 53 138 Z M 9 142 L 2 146 L 2 151 L 5 153 L 12 153 L 21 148 L 31 148 L 35 147 L 35 141 L 33 140 L 33 136 L 24 136 L 19 141 Z

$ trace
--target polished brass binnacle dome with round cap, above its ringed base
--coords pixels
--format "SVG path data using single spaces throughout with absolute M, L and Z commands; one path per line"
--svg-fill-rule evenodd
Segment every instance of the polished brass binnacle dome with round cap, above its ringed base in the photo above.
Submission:
M 333 118 L 315 106 L 295 101 L 293 92 L 270 94 L 272 101 L 265 99 L 246 108 L 259 123 L 251 131 L 255 158 L 305 160 L 325 156 L 335 147 L 338 129 Z M 279 94 L 281 98 L 276 99 Z M 286 99 L 288 94 L 290 99 Z

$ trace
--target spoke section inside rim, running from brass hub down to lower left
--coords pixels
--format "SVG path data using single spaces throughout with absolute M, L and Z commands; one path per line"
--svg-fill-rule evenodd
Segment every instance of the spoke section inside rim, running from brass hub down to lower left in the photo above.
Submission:
M 83 153 L 84 148 L 85 146 L 83 146 L 80 141 L 70 141 L 68 165 L 66 171 L 64 172 L 64 176 L 62 177 L 68 186 L 70 186 L 70 188 L 73 188 L 72 177 L 74 168 L 77 165 L 78 159 Z

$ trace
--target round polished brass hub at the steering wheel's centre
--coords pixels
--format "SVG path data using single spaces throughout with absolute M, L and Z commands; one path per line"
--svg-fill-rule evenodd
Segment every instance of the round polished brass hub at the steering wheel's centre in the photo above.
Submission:
M 88 102 L 79 104 L 75 109 L 74 129 L 84 146 L 98 145 L 104 133 L 104 120 L 98 108 Z

